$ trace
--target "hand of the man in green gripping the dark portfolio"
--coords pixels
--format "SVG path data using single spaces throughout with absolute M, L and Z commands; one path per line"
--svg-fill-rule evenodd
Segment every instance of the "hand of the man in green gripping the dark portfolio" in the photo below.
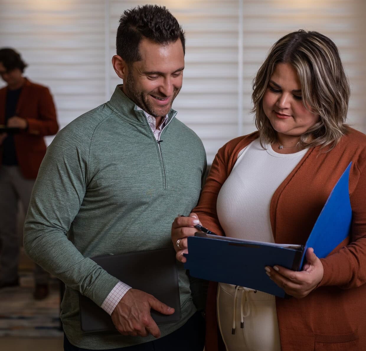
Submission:
M 160 330 L 150 315 L 150 309 L 173 314 L 174 309 L 141 290 L 126 292 L 112 312 L 112 321 L 122 335 L 160 337 Z

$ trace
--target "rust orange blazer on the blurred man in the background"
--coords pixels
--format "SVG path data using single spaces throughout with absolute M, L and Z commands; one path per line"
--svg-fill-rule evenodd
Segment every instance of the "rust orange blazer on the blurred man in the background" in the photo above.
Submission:
M 5 124 L 6 94 L 7 87 L 0 89 L 0 124 Z M 26 131 L 14 135 L 19 168 L 25 178 L 36 179 L 46 153 L 43 137 L 56 134 L 59 130 L 49 89 L 26 79 L 16 107 L 16 116 L 28 122 Z M 0 165 L 2 157 L 3 149 L 0 146 Z

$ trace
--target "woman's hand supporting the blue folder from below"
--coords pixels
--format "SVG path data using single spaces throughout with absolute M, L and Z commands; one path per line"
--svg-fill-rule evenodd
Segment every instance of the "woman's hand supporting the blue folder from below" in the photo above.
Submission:
M 300 299 L 313 291 L 324 275 L 323 265 L 311 247 L 306 250 L 306 261 L 304 269 L 300 272 L 281 266 L 266 266 L 265 269 L 270 279 L 282 288 L 286 294 Z

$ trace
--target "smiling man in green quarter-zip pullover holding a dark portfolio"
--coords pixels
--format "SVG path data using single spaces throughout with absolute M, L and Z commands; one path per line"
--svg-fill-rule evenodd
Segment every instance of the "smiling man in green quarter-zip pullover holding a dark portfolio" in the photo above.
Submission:
M 201 351 L 203 318 L 182 265 L 182 318 L 158 328 L 150 309 L 173 309 L 89 258 L 171 247 L 172 221 L 197 203 L 206 168 L 202 142 L 171 109 L 184 69 L 177 20 L 165 7 L 125 11 L 116 46 L 112 63 L 123 85 L 49 146 L 27 214 L 25 248 L 67 285 L 65 350 Z M 111 314 L 119 333 L 83 333 L 78 292 Z

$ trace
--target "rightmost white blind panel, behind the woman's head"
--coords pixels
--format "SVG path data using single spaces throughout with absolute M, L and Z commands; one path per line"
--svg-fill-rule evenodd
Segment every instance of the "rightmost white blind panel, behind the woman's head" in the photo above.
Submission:
M 365 4 L 358 0 L 244 0 L 244 132 L 251 130 L 251 81 L 270 46 L 290 31 L 315 30 L 337 45 L 351 83 L 348 123 L 366 131 L 363 96 L 365 87 L 365 31 L 361 28 Z

